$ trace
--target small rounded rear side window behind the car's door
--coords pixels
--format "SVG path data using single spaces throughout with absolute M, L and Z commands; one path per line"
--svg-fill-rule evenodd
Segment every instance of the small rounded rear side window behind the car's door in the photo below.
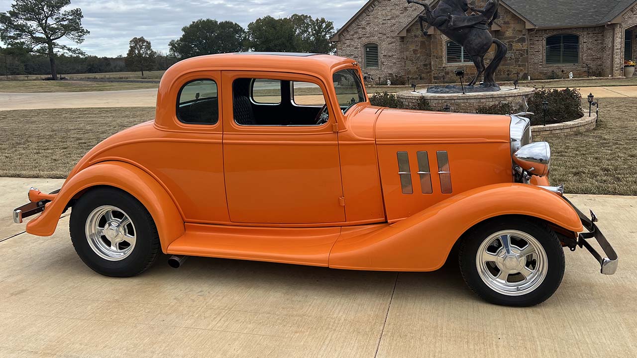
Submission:
M 177 99 L 177 118 L 186 124 L 217 124 L 219 121 L 217 82 L 203 79 L 183 85 Z

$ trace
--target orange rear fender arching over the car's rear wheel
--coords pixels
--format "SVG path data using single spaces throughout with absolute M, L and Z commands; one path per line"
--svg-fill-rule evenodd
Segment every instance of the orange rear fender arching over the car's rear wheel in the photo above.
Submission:
M 124 162 L 101 162 L 71 176 L 45 211 L 27 224 L 27 233 L 51 236 L 69 202 L 84 190 L 97 186 L 116 187 L 143 204 L 155 221 L 162 250 L 185 232 L 183 218 L 166 190 L 145 171 Z

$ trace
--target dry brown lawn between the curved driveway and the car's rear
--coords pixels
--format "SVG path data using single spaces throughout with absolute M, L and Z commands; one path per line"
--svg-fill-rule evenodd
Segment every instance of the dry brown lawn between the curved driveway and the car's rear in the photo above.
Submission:
M 154 107 L 0 111 L 0 176 L 66 178 L 90 148 Z

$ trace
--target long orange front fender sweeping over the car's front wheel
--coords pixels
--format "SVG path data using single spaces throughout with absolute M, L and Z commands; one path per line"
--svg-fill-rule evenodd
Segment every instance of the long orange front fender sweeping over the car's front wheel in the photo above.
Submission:
M 575 233 L 583 231 L 562 197 L 534 185 L 502 183 L 457 194 L 371 233 L 339 240 L 329 266 L 382 271 L 433 271 L 468 229 L 492 217 L 526 215 Z

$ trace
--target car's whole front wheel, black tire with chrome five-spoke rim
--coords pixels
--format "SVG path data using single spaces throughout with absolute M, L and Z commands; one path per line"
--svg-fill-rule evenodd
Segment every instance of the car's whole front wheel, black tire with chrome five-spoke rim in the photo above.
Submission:
M 486 301 L 534 306 L 552 296 L 564 276 L 564 250 L 545 223 L 503 217 L 478 225 L 461 243 L 465 282 Z

